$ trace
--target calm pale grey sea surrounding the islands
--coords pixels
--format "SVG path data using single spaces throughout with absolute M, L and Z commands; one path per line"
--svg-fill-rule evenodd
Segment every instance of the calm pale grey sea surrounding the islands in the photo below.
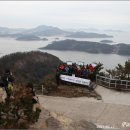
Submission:
M 107 33 L 108 34 L 108 33 Z M 109 33 L 113 35 L 113 38 L 67 38 L 63 36 L 53 36 L 46 37 L 48 41 L 17 41 L 14 38 L 0 38 L 0 57 L 15 53 L 15 52 L 28 52 L 39 50 L 42 52 L 47 52 L 52 55 L 57 56 L 62 61 L 72 61 L 72 62 L 84 62 L 85 64 L 90 64 L 93 62 L 101 62 L 103 64 L 104 70 L 114 69 L 117 64 L 124 65 L 125 61 L 130 59 L 130 56 L 123 56 L 117 54 L 92 54 L 80 51 L 56 51 L 56 50 L 41 50 L 39 48 L 45 47 L 51 44 L 53 41 L 74 39 L 78 41 L 93 41 L 100 42 L 101 40 L 112 40 L 113 43 L 107 44 L 117 44 L 125 43 L 130 44 L 130 33 L 128 32 L 114 32 Z M 103 43 L 102 43 L 103 44 Z M 104 43 L 105 44 L 105 43 Z

